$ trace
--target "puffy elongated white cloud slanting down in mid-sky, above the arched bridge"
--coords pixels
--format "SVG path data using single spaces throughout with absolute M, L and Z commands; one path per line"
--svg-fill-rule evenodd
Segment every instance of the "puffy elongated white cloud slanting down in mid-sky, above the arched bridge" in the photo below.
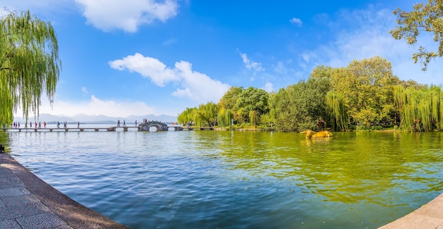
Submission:
M 172 95 L 202 103 L 219 101 L 230 87 L 229 84 L 211 79 L 206 74 L 192 71 L 190 62 L 185 61 L 176 62 L 174 68 L 171 68 L 155 58 L 136 53 L 122 60 L 110 61 L 109 65 L 114 69 L 137 72 L 151 79 L 157 86 L 165 86 L 168 82 L 181 82 L 182 87 L 176 89 Z

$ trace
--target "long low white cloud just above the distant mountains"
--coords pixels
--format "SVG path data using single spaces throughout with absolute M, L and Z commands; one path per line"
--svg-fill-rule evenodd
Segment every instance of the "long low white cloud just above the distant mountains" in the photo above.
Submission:
M 146 114 L 160 115 L 156 113 L 156 109 L 148 106 L 142 101 L 106 101 L 98 99 L 96 96 L 91 96 L 87 101 L 61 101 L 54 99 L 54 104 L 51 107 L 49 101 L 42 99 L 42 106 L 40 106 L 40 113 L 50 113 L 52 115 L 75 116 L 79 113 L 87 115 L 115 116 L 142 116 Z M 17 111 L 16 114 L 20 116 L 22 111 Z M 33 118 L 30 114 L 30 118 Z

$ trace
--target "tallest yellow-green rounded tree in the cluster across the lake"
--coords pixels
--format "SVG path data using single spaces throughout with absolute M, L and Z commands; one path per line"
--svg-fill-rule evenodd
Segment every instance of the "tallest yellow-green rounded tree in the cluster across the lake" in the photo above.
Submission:
M 346 68 L 330 69 L 333 93 L 326 101 L 335 128 L 344 130 L 346 123 L 372 125 L 391 121 L 393 76 L 391 63 L 381 57 L 353 60 Z

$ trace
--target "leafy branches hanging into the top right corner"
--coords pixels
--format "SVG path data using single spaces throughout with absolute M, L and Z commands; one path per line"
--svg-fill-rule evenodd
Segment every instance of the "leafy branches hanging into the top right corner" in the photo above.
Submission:
M 427 4 L 415 4 L 413 11 L 405 12 L 396 9 L 393 14 L 397 16 L 397 24 L 395 29 L 389 33 L 393 38 L 400 40 L 405 39 L 409 45 L 415 45 L 417 38 L 421 32 L 432 33 L 434 41 L 439 43 L 436 52 L 427 51 L 426 48 L 420 46 L 418 52 L 413 54 L 414 62 L 420 59 L 422 62 L 422 70 L 427 69 L 427 64 L 435 57 L 443 55 L 443 0 L 428 0 Z

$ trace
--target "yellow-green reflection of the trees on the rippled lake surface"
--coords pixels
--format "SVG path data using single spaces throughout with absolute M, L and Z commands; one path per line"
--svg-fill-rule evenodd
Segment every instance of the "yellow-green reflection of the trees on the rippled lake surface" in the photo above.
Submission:
M 216 146 L 226 169 L 246 172 L 236 179 L 275 177 L 325 201 L 396 206 L 404 204 L 396 201 L 399 193 L 443 189 L 441 133 L 335 133 L 308 140 L 297 133 L 267 132 L 200 137 L 197 145 Z

